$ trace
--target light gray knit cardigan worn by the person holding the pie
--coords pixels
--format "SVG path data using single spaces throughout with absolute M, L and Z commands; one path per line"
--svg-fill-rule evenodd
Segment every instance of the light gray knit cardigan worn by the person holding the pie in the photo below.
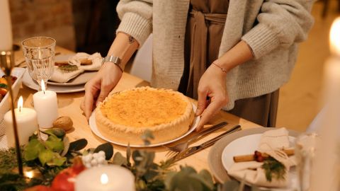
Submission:
M 117 32 L 128 33 L 142 45 L 153 33 L 151 84 L 176 90 L 183 74 L 184 36 L 190 0 L 121 0 Z M 297 43 L 312 28 L 311 0 L 229 0 L 219 55 L 240 40 L 254 59 L 227 74 L 229 103 L 276 91 L 286 83 L 297 57 Z

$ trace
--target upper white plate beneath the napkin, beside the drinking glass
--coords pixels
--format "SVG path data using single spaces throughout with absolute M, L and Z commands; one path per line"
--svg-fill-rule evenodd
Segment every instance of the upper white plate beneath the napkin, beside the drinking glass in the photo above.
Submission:
M 57 61 L 67 61 L 69 57 L 73 57 L 75 54 L 60 54 L 55 56 L 55 62 Z M 74 79 L 71 79 L 65 83 L 59 83 L 55 81 L 47 81 L 47 84 L 53 85 L 53 86 L 79 86 L 82 84 L 85 84 L 87 81 L 92 79 L 96 75 L 97 71 L 85 71 L 82 74 L 79 74 L 79 76 L 75 77 Z

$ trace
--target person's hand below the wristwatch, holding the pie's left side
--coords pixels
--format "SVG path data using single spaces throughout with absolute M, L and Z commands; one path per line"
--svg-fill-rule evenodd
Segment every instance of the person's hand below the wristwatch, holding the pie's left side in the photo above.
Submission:
M 123 72 L 118 66 L 106 62 L 101 66 L 96 76 L 85 84 L 85 96 L 81 103 L 81 110 L 84 111 L 87 120 L 96 105 L 101 103 L 115 88 L 122 74 Z

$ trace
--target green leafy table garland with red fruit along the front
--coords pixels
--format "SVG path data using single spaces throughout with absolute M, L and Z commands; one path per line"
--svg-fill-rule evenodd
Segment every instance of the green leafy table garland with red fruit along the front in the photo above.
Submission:
M 52 128 L 42 133 L 47 134 L 47 139 L 42 140 L 38 134 L 33 134 L 22 148 L 23 166 L 39 170 L 41 176 L 26 178 L 19 175 L 14 171 L 15 149 L 0 150 L 0 190 L 55 190 L 58 186 L 58 190 L 73 190 L 73 183 L 61 184 L 60 181 L 77 176 L 86 168 L 80 158 L 99 151 L 105 152 L 108 163 L 128 168 L 135 175 L 136 190 L 244 190 L 244 184 L 235 180 L 224 184 L 214 183 L 208 170 L 197 172 L 191 166 L 181 166 L 175 170 L 171 161 L 155 163 L 155 153 L 146 149 L 132 151 L 128 146 L 126 156 L 123 156 L 120 152 L 114 152 L 109 143 L 84 149 L 86 139 L 69 142 L 63 129 Z M 145 144 L 149 144 L 153 136 L 147 132 L 142 139 Z

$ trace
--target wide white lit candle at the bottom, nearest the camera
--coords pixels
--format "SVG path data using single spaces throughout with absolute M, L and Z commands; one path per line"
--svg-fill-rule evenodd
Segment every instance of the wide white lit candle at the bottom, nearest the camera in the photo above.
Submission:
M 132 191 L 135 190 L 135 177 L 121 166 L 93 167 L 77 176 L 74 187 L 76 191 Z

